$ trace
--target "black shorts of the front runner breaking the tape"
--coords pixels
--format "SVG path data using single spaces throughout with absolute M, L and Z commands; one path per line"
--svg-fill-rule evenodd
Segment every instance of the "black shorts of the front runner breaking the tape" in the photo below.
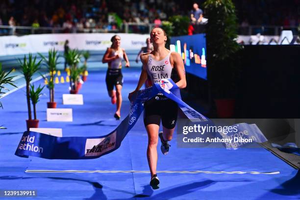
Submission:
M 172 129 L 176 125 L 178 106 L 164 95 L 156 95 L 144 103 L 144 124 L 160 125 Z

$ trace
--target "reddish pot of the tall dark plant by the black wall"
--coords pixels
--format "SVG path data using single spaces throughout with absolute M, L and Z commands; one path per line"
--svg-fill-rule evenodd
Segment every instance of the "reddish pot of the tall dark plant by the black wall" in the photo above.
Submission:
M 217 115 L 219 118 L 231 118 L 234 114 L 234 99 L 215 100 L 217 107 Z

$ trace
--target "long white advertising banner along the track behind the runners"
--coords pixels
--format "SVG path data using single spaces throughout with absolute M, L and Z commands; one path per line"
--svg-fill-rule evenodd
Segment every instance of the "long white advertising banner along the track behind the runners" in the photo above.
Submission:
M 78 50 L 106 50 L 111 45 L 114 33 L 73 33 L 73 34 L 36 34 L 25 36 L 0 37 L 0 56 L 27 53 L 45 53 L 55 48 L 63 51 L 64 43 L 69 40 L 69 47 Z M 118 33 L 121 47 L 125 50 L 140 50 L 146 46 L 148 34 Z

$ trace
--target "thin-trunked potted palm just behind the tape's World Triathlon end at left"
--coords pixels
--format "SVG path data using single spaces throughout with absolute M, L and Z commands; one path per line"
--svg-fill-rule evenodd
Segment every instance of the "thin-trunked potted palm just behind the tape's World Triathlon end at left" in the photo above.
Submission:
M 42 60 L 39 62 L 36 61 L 36 56 L 32 58 L 32 54 L 29 53 L 28 55 L 28 60 L 26 55 L 24 56 L 23 61 L 21 59 L 18 59 L 22 73 L 25 78 L 26 82 L 26 99 L 27 99 L 27 108 L 28 108 L 28 120 L 26 120 L 26 125 L 27 125 L 27 130 L 29 130 L 30 127 L 35 127 L 36 126 L 36 121 L 32 120 L 31 117 L 31 106 L 30 106 L 30 81 L 32 80 L 32 75 L 36 73 L 40 69 L 40 65 Z

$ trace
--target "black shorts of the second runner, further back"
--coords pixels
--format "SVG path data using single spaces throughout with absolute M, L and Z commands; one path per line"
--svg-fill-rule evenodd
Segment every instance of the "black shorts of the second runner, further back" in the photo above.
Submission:
M 123 75 L 121 69 L 108 69 L 105 77 L 107 91 L 112 91 L 114 85 L 123 85 Z

